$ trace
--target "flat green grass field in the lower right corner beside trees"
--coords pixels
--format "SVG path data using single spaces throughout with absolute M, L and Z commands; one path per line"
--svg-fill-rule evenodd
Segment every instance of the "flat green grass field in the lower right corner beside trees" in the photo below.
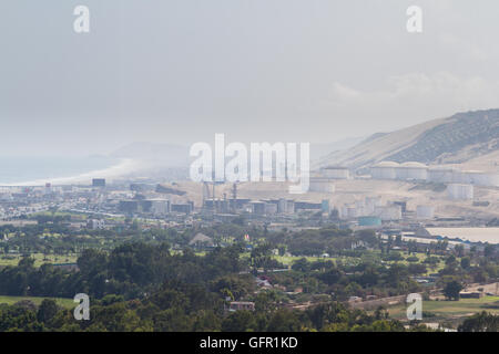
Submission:
M 487 311 L 493 314 L 499 314 L 499 309 L 489 308 L 489 305 L 496 306 L 499 304 L 499 296 L 483 296 L 481 299 L 461 299 L 459 301 L 424 301 L 422 311 L 431 312 L 436 316 L 425 319 L 425 321 L 438 321 L 447 319 L 456 319 L 462 316 L 469 316 L 473 313 Z M 396 305 L 389 308 L 390 316 L 397 320 L 406 319 L 406 305 Z

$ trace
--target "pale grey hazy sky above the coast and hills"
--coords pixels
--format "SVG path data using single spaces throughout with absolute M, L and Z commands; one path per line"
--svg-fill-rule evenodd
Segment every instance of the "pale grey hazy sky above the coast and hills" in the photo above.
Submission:
M 327 143 L 499 107 L 498 13 L 497 0 L 2 0 L 0 155 L 214 133 Z

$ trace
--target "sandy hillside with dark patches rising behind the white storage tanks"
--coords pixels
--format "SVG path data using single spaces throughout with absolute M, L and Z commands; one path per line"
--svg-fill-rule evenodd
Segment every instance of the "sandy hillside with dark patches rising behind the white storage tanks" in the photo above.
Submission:
M 497 159 L 499 110 L 458 113 L 393 133 L 377 133 L 343 152 L 334 152 L 319 166 L 363 168 L 381 160 L 424 164 L 462 164 Z

